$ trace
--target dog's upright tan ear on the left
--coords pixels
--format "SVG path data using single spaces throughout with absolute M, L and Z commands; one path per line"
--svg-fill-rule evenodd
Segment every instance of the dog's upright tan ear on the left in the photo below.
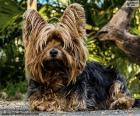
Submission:
M 28 9 L 23 15 L 23 41 L 25 46 L 29 41 L 37 39 L 39 32 L 47 22 L 34 9 Z

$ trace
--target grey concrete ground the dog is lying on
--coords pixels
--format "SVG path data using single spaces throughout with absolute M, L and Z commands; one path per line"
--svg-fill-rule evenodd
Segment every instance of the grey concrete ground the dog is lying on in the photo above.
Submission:
M 140 116 L 140 108 L 131 110 L 100 110 L 83 112 L 30 112 L 27 102 L 0 101 L 0 116 Z

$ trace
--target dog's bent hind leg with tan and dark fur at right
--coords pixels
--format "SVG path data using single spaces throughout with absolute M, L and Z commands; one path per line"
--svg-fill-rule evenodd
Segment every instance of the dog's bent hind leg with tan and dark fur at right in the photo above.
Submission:
M 133 107 L 135 99 L 133 99 L 121 81 L 115 81 L 110 88 L 112 103 L 110 109 L 129 109 Z

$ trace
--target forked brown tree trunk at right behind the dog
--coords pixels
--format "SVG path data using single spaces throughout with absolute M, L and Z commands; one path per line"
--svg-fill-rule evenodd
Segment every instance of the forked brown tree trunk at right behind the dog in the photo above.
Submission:
M 127 1 L 96 34 L 96 38 L 105 41 L 111 40 L 124 51 L 135 63 L 140 64 L 140 36 L 129 32 L 129 24 L 135 7 L 127 7 Z

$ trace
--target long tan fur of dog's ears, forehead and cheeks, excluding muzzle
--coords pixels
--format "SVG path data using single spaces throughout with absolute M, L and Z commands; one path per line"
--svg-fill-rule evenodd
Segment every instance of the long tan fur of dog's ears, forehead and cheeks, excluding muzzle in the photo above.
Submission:
M 86 32 L 83 8 L 78 4 L 70 5 L 65 10 L 60 22 L 54 25 L 48 24 L 37 11 L 27 10 L 24 14 L 23 25 L 25 66 L 27 73 L 30 72 L 27 74 L 31 75 L 29 78 L 42 83 L 46 82 L 45 75 L 41 71 L 41 62 L 47 57 L 45 52 L 55 47 L 57 42 L 64 42 L 62 47 L 73 56 L 71 57 L 66 51 L 63 51 L 71 68 L 69 81 L 75 81 L 77 74 L 83 71 L 88 54 L 84 45 Z M 52 39 L 54 42 L 50 42 Z M 49 47 L 45 48 L 48 43 Z M 62 48 L 60 49 L 62 50 Z M 77 61 L 76 57 L 79 52 Z

